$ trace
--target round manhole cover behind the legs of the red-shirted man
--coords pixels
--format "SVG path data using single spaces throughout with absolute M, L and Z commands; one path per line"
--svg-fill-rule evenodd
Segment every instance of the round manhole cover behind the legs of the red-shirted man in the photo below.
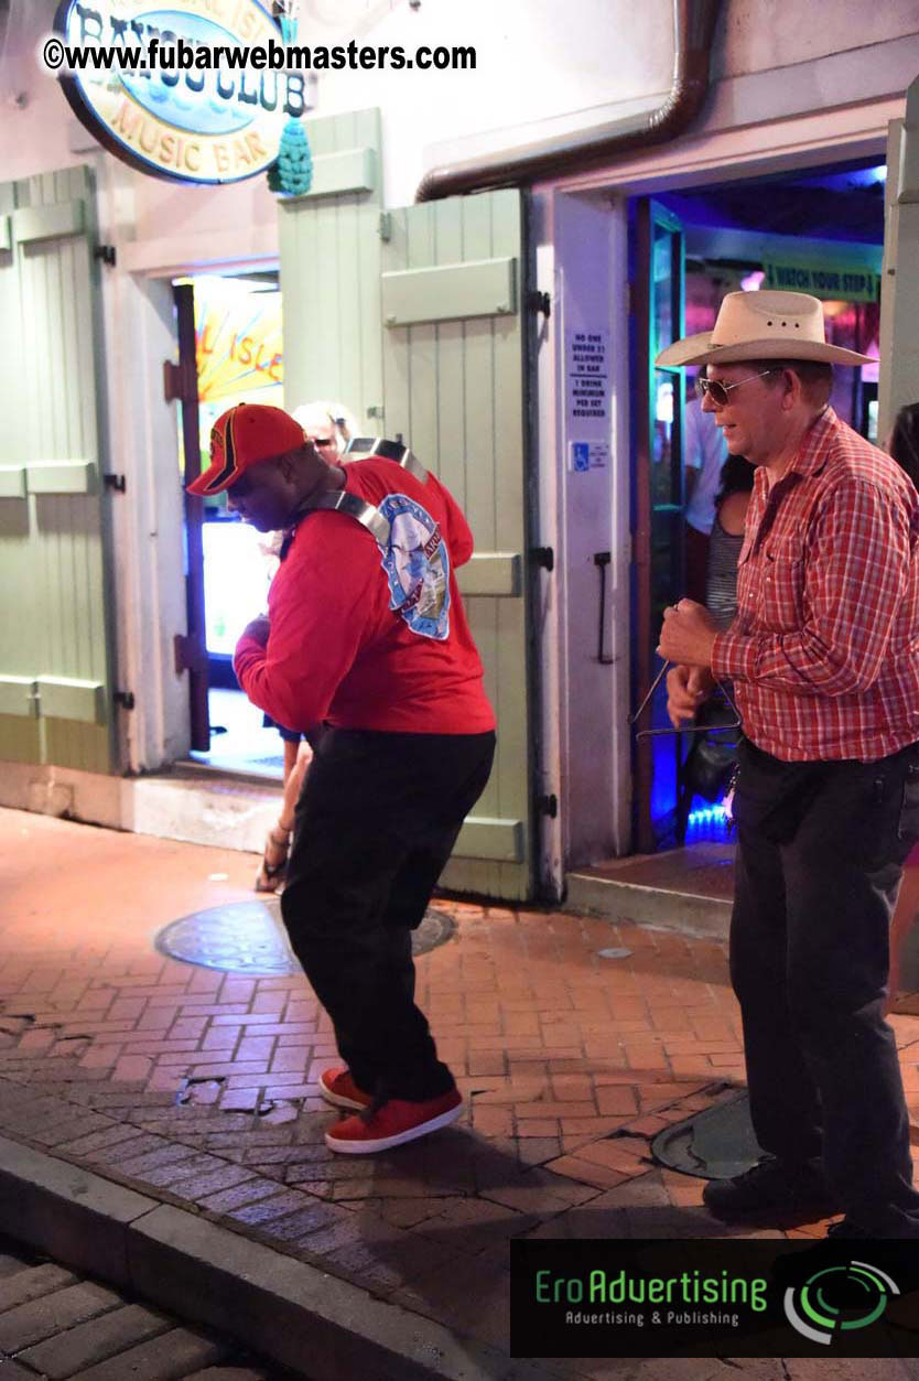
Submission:
M 413 954 L 426 954 L 443 945 L 455 928 L 457 923 L 446 911 L 428 910 L 411 936 Z M 279 898 L 193 911 L 166 925 L 156 936 L 156 947 L 168 958 L 225 974 L 275 978 L 301 971 L 287 943 Z

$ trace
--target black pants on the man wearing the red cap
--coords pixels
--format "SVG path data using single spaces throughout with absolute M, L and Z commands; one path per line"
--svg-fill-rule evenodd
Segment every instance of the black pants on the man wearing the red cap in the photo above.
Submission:
M 281 914 L 342 1059 L 381 1099 L 454 1085 L 414 1001 L 411 931 L 494 746 L 494 733 L 330 729 L 304 782 Z

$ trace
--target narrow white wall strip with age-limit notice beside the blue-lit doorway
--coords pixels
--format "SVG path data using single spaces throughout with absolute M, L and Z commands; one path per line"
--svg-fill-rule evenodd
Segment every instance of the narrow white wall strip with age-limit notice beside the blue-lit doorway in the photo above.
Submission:
M 541 413 L 540 472 L 544 540 L 555 545 L 556 572 L 541 577 L 544 744 L 556 765 L 562 837 L 567 866 L 621 853 L 629 842 L 629 434 L 628 304 L 625 209 L 606 197 L 559 195 L 540 199 L 537 233 L 551 225 L 553 290 L 551 359 L 555 407 Z M 540 250 L 537 250 L 540 254 Z M 541 284 L 542 286 L 542 284 Z M 570 414 L 566 373 L 575 331 L 609 341 L 610 414 L 603 429 Z M 575 472 L 570 443 L 603 439 L 603 468 Z M 600 572 L 597 552 L 610 552 L 606 569 L 606 619 L 599 656 Z M 549 592 L 551 591 L 551 592 Z M 557 755 L 557 757 L 556 757 Z M 552 838 L 549 830 L 548 837 Z

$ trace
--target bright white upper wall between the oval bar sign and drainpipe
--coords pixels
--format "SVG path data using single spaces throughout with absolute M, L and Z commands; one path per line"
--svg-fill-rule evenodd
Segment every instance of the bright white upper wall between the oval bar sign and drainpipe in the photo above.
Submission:
M 339 0 L 334 8 L 334 21 L 322 23 L 323 6 L 304 4 L 304 41 L 356 33 L 370 44 L 476 48 L 475 70 L 320 76 L 322 113 L 382 108 L 389 206 L 414 200 L 424 173 L 454 148 L 466 157 L 596 124 L 620 102 L 647 105 L 671 80 L 669 0 L 421 0 L 418 10 L 407 0 Z

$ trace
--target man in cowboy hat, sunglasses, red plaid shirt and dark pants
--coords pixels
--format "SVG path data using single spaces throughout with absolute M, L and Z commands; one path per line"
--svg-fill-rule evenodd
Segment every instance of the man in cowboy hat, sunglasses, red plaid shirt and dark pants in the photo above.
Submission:
M 919 496 L 828 406 L 820 302 L 731 293 L 662 365 L 705 366 L 704 406 L 756 467 L 738 613 L 666 609 L 668 711 L 713 678 L 744 722 L 731 982 L 764 1157 L 711 1182 L 718 1217 L 844 1211 L 844 1237 L 919 1237 L 909 1119 L 883 1021 L 887 931 L 919 837 Z

